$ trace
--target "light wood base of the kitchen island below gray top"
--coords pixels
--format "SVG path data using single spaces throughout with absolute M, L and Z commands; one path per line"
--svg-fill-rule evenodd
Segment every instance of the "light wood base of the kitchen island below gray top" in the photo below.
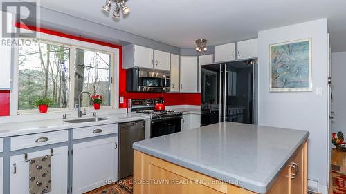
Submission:
M 163 159 L 134 151 L 134 194 L 255 194 Z M 270 194 L 307 193 L 307 142 L 286 162 Z

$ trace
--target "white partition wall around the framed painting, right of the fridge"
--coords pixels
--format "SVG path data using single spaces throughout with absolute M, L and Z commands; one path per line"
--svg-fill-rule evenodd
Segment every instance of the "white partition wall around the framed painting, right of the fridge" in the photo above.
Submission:
M 264 30 L 258 33 L 258 123 L 309 130 L 309 174 L 318 186 L 327 187 L 327 19 Z M 269 93 L 269 46 L 312 39 L 313 92 Z M 323 88 L 316 96 L 316 87 Z M 284 137 L 277 137 L 284 138 Z M 325 190 L 325 189 L 323 189 Z

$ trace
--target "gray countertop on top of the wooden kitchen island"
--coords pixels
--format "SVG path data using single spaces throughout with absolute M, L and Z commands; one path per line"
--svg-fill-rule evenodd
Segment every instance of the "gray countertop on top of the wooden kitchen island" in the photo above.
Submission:
M 255 193 L 266 193 L 309 132 L 233 122 L 134 143 L 134 149 Z

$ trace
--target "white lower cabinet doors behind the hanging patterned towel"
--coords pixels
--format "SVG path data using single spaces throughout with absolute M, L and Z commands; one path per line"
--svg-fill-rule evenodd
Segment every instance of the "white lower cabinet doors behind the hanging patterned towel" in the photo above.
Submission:
M 51 180 L 52 191 L 49 194 L 66 194 L 68 177 L 68 149 L 67 146 L 53 148 L 51 157 Z M 51 151 L 43 150 L 28 153 L 28 159 L 50 155 Z M 29 164 L 24 158 L 24 154 L 10 157 L 10 193 L 26 194 L 29 191 Z

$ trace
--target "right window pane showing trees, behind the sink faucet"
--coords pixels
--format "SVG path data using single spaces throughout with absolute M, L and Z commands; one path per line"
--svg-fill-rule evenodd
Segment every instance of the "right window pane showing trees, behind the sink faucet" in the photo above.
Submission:
M 91 95 L 102 95 L 103 106 L 110 106 L 111 55 L 90 50 L 75 50 L 75 104 L 78 95 L 86 90 Z M 84 95 L 86 99 L 86 95 Z M 89 99 L 82 101 L 82 106 L 89 106 Z

